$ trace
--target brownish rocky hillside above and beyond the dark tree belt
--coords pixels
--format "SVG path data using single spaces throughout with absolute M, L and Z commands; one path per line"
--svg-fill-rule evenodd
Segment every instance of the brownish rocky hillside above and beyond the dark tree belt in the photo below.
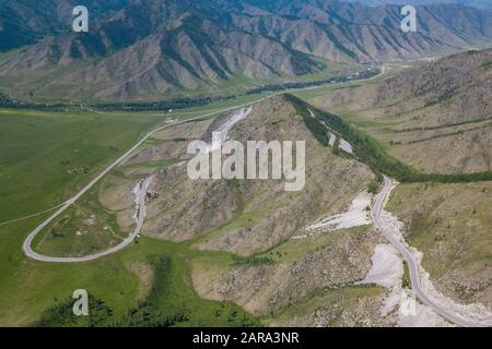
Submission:
M 464 173 L 492 169 L 491 93 L 492 51 L 483 50 L 315 101 L 365 122 L 394 156 L 425 172 Z

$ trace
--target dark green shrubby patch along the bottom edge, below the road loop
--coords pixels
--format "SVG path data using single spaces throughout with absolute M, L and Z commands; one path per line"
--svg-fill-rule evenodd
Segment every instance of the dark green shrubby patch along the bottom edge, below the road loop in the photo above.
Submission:
M 106 302 L 90 296 L 87 316 L 73 315 L 75 302 L 67 299 L 43 312 L 35 326 L 257 326 L 260 323 L 231 302 L 200 299 L 190 285 L 188 266 L 180 256 L 150 255 L 154 270 L 149 294 L 117 317 Z

